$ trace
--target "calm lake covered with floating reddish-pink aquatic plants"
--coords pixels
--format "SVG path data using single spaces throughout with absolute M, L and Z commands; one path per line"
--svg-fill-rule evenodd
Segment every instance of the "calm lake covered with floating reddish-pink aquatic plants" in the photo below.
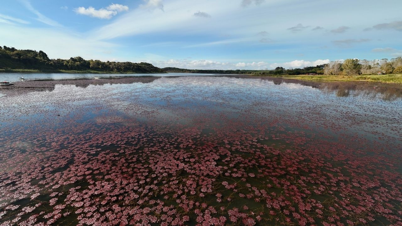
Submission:
M 0 87 L 0 224 L 402 223 L 399 84 L 24 75 Z

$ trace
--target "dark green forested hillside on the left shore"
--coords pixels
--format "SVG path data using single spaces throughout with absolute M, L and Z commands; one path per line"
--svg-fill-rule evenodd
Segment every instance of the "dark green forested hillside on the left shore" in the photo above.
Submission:
M 74 57 L 68 60 L 49 59 L 43 51 L 31 49 L 15 49 L 0 47 L 0 70 L 39 70 L 39 71 L 92 71 L 116 73 L 164 73 L 164 70 L 148 63 L 102 62 L 100 60 L 84 60 Z

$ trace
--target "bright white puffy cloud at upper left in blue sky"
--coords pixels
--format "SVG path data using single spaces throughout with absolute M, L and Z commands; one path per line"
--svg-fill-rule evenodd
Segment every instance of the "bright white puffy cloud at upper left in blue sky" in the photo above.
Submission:
M 92 6 L 88 8 L 78 7 L 74 11 L 78 14 L 87 15 L 91 17 L 96 17 L 100 19 L 110 19 L 117 14 L 117 12 L 127 11 L 128 6 L 123 6 L 121 4 L 110 4 L 106 8 L 95 9 Z

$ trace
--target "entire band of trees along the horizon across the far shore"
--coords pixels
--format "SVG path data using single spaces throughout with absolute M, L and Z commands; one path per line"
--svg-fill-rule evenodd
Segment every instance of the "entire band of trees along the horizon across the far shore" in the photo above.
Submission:
M 402 74 L 402 57 L 391 60 L 358 60 L 347 59 L 345 61 L 331 61 L 304 68 L 277 67 L 273 70 L 198 70 L 183 68 L 157 68 L 149 63 L 132 62 L 103 62 L 100 60 L 84 60 L 82 57 L 74 57 L 68 60 L 49 59 L 43 51 L 31 49 L 16 49 L 14 47 L 0 46 L 0 69 L 34 69 L 41 71 L 51 70 L 76 70 L 98 72 L 126 72 L 126 73 L 209 73 L 209 74 L 254 74 L 254 75 L 357 75 L 357 74 Z

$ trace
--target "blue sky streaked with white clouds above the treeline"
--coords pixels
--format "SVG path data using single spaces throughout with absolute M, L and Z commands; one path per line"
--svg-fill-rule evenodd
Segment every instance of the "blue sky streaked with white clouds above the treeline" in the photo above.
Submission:
M 0 45 L 191 69 L 402 56 L 401 0 L 2 0 Z

